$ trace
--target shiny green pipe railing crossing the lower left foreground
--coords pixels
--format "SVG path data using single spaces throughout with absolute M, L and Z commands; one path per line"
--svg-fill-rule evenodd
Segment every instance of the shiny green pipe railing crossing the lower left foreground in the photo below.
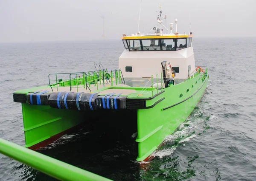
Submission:
M 111 181 L 4 139 L 0 139 L 0 153 L 62 181 Z

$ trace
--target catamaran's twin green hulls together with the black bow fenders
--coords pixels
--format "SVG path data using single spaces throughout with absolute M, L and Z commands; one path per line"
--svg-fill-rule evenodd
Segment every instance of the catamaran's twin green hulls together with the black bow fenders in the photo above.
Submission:
M 47 95 L 14 93 L 14 99 L 15 102 L 22 102 L 25 147 L 36 150 L 69 131 L 84 125 L 90 127 L 88 122 L 91 120 L 110 116 L 120 122 L 132 122 L 131 129 L 137 132 L 137 161 L 143 161 L 186 120 L 201 99 L 207 82 L 207 74 L 196 73 L 179 84 L 160 89 L 154 96 L 137 99 L 96 93 L 78 96 L 79 93 L 73 92 Z M 41 100 L 37 105 L 38 97 Z M 118 121 L 112 123 L 112 119 L 105 119 L 105 122 L 113 124 L 113 127 L 122 127 L 117 125 Z

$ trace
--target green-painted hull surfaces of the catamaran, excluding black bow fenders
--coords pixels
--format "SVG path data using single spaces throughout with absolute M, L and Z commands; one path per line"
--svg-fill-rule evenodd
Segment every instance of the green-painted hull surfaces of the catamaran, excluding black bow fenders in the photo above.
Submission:
M 118 80 L 117 75 L 115 78 Z M 208 78 L 207 71 L 206 74 L 201 75 L 197 72 L 183 82 L 170 85 L 168 88 L 162 88 L 160 90 L 152 87 L 146 88 L 146 93 L 144 94 L 140 94 L 144 88 L 137 86 L 118 87 L 117 82 L 115 83 L 111 79 L 111 82 L 113 82 L 111 86 L 105 85 L 105 87 L 97 89 L 96 91 L 137 91 L 137 93 L 129 93 L 123 96 L 125 96 L 127 100 L 132 100 L 132 104 L 131 102 L 127 102 L 127 109 L 137 110 L 137 161 L 143 161 L 157 149 L 167 135 L 173 133 L 178 125 L 184 122 L 190 115 L 207 87 Z M 98 79 L 98 77 L 96 77 L 96 79 Z M 81 79 L 79 79 L 79 81 L 82 82 Z M 72 81 L 70 82 L 72 83 Z M 63 85 L 64 84 L 65 82 L 63 82 Z M 76 84 L 76 82 L 73 84 Z M 49 88 L 49 86 L 40 87 L 40 89 L 45 88 Z M 59 87 L 59 89 L 60 88 L 63 87 Z M 20 90 L 15 93 L 26 94 L 27 96 L 29 92 L 35 92 L 36 90 L 38 90 L 38 88 Z M 77 88 L 77 90 L 79 91 L 79 88 Z M 16 100 L 17 99 L 20 99 L 20 97 L 16 98 Z M 136 101 L 145 102 L 145 106 L 134 107 L 134 100 L 135 104 Z M 88 119 L 96 117 L 95 111 L 91 110 L 67 110 L 65 108 L 63 109 L 63 107 L 52 108 L 50 105 L 31 105 L 28 101 L 22 103 L 22 111 L 23 130 L 25 132 L 26 141 L 25 147 L 34 150 L 55 141 L 67 130 L 73 127 L 79 127 L 81 123 L 86 123 Z M 115 110 L 112 110 L 111 116 L 114 115 Z

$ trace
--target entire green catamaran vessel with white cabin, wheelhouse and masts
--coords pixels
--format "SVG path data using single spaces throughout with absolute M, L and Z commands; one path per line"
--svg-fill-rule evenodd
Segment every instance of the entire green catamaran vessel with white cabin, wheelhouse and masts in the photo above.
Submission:
M 206 67 L 195 66 L 192 32 L 179 34 L 175 19 L 172 33 L 173 23 L 166 28 L 161 14 L 149 34 L 123 34 L 118 69 L 95 63 L 93 71 L 49 74 L 48 85 L 15 91 L 25 147 L 44 147 L 95 114 L 122 110 L 136 114 L 137 161 L 147 160 L 190 115 L 209 78 Z

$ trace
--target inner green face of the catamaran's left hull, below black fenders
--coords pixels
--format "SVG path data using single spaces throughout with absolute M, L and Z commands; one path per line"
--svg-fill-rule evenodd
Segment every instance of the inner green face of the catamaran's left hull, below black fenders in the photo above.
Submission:
M 78 110 L 54 109 L 50 106 L 22 103 L 25 147 L 37 149 L 58 139 L 61 134 L 84 122 L 85 113 Z M 51 140 L 49 140 L 51 139 Z M 45 141 L 42 143 L 42 141 Z

